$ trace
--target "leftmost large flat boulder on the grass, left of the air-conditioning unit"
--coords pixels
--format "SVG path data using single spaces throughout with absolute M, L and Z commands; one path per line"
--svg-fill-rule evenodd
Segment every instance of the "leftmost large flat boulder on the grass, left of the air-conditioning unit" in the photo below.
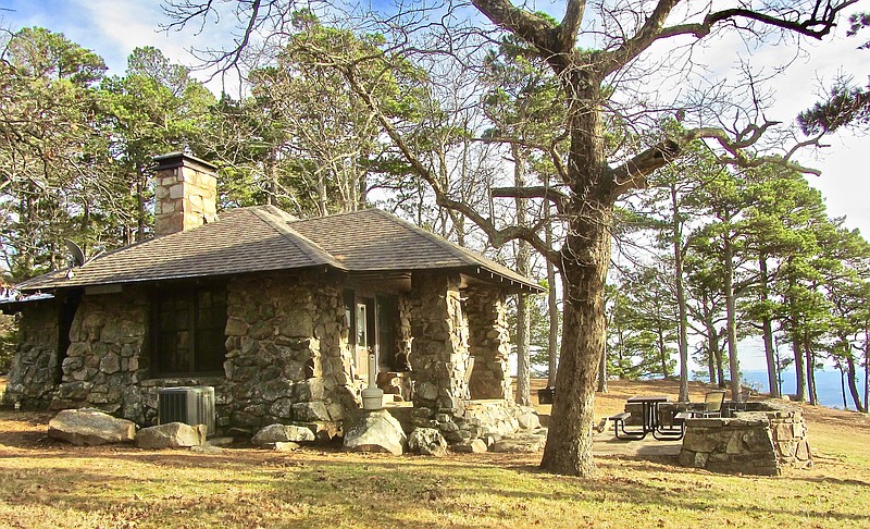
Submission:
M 48 423 L 48 434 L 78 446 L 130 442 L 136 423 L 94 408 L 64 409 Z

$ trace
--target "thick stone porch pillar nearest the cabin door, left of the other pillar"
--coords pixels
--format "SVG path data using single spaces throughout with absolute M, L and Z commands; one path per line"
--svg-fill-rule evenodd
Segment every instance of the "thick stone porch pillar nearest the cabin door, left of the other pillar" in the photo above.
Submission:
M 414 406 L 461 414 L 470 397 L 468 325 L 458 274 L 414 273 L 408 297 Z

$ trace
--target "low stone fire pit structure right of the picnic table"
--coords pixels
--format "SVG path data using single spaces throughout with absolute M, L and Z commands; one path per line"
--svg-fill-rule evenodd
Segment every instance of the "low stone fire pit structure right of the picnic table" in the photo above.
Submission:
M 812 465 L 800 408 L 778 401 L 747 403 L 746 408 L 729 418 L 686 419 L 680 464 L 759 476 Z

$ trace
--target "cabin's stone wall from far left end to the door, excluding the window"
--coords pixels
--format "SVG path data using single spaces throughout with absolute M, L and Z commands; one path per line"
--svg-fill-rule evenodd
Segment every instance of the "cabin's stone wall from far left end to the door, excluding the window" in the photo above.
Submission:
M 314 273 L 231 280 L 226 377 L 150 378 L 149 315 L 145 288 L 84 296 L 57 385 L 57 304 L 26 308 L 7 398 L 97 407 L 147 426 L 157 422 L 161 387 L 211 385 L 220 427 L 304 422 L 328 434 L 358 408 L 337 281 Z

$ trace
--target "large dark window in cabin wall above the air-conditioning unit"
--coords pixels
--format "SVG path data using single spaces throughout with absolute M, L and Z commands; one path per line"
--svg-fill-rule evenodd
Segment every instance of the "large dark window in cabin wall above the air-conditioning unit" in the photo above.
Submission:
M 222 374 L 226 358 L 226 288 L 161 290 L 154 295 L 154 371 Z

